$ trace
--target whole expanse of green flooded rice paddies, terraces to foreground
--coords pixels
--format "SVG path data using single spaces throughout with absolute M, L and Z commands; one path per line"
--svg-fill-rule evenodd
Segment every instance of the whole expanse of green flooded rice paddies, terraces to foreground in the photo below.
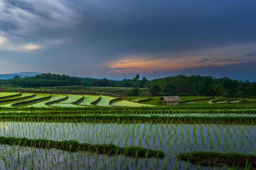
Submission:
M 256 168 L 256 102 L 110 106 L 116 98 L 67 96 L 0 105 L 0 169 Z

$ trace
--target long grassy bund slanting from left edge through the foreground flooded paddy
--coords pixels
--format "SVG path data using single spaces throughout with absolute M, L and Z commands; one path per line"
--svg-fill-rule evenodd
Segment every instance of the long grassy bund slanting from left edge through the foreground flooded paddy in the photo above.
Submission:
M 118 147 L 114 144 L 87 144 L 79 143 L 75 140 L 53 141 L 48 139 L 27 139 L 0 136 L 0 144 L 18 145 L 23 147 L 35 147 L 41 149 L 58 149 L 69 152 L 91 151 L 106 155 L 125 155 L 129 157 L 145 158 L 156 157 L 163 158 L 164 152 L 161 150 L 151 150 L 143 147 Z

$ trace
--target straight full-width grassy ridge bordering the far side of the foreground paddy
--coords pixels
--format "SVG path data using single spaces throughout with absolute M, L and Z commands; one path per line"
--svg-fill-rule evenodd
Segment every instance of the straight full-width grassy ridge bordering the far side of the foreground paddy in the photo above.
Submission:
M 22 115 L 0 116 L 0 122 L 93 122 L 93 123 L 173 123 L 173 124 L 237 124 L 237 125 L 255 125 L 256 117 L 243 116 L 225 116 L 225 117 L 197 117 L 197 116 L 135 116 L 135 115 L 74 115 L 74 116 L 37 116 Z

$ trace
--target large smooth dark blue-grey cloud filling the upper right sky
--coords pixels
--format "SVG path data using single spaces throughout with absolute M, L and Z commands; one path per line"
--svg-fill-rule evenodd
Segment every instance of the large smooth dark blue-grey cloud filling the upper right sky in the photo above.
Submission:
M 86 10 L 77 37 L 106 58 L 256 42 L 256 1 L 197 2 L 108 1 Z

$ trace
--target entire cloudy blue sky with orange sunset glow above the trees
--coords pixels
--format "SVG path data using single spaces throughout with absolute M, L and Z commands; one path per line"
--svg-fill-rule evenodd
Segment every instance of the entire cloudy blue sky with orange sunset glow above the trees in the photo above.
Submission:
M 0 74 L 256 81 L 255 0 L 0 0 Z

